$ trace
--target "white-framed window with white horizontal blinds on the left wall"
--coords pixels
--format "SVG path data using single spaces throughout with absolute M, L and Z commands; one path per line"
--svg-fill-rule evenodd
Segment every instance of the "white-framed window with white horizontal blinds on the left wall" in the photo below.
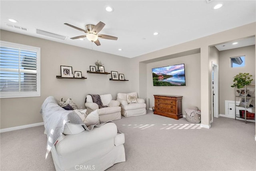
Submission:
M 40 48 L 0 42 L 0 97 L 40 96 Z

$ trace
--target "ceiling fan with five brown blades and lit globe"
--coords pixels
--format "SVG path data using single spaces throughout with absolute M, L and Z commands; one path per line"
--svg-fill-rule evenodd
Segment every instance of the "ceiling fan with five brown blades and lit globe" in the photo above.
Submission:
M 75 28 L 77 30 L 80 30 L 82 32 L 87 33 L 86 35 L 82 35 L 82 36 L 76 36 L 74 38 L 70 38 L 70 39 L 79 39 L 79 38 L 87 38 L 88 40 L 90 40 L 91 42 L 94 42 L 97 46 L 100 46 L 100 41 L 98 40 L 98 38 L 103 38 L 103 39 L 109 39 L 109 40 L 117 40 L 117 37 L 114 36 L 109 36 L 109 35 L 105 35 L 105 34 L 98 34 L 100 32 L 100 30 L 102 30 L 102 28 L 105 26 L 105 24 L 103 22 L 99 22 L 96 25 L 93 24 L 87 24 L 85 26 L 85 30 L 83 30 L 82 28 L 78 28 L 76 26 L 72 26 L 71 24 L 68 23 L 64 23 L 67 26 L 70 26 L 72 28 Z

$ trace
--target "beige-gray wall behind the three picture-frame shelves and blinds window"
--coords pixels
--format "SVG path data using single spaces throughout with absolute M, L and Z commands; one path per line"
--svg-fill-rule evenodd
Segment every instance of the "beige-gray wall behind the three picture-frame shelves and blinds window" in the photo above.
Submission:
M 0 31 L 1 40 L 41 48 L 41 96 L 0 99 L 1 129 L 42 122 L 39 113 L 46 97 L 52 95 L 60 100 L 72 98 L 78 107 L 84 106 L 88 93 L 111 93 L 116 99 L 118 92 L 129 92 L 130 82 L 110 81 L 111 75 L 89 74 L 90 66 L 97 60 L 104 64 L 105 72 L 117 71 L 124 74 L 126 80 L 130 76 L 130 58 L 97 52 L 40 38 Z M 81 71 L 86 80 L 56 79 L 60 75 L 60 66 L 72 66 L 72 70 Z

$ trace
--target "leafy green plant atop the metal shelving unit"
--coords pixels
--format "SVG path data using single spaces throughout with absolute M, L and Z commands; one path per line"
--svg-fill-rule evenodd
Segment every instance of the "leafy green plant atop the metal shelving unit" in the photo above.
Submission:
M 250 85 L 252 80 L 252 75 L 249 73 L 239 73 L 238 75 L 234 76 L 233 82 L 235 82 L 231 87 L 236 87 L 238 89 L 243 88 L 244 85 Z

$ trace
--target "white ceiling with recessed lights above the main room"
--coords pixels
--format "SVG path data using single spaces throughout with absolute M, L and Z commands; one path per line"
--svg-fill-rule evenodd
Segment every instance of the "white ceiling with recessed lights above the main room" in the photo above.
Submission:
M 214 10 L 218 3 L 223 4 L 222 8 Z M 106 12 L 107 5 L 114 7 L 114 12 Z M 212 0 L 210 3 L 206 0 L 1 0 L 0 6 L 2 30 L 128 58 L 256 21 L 255 0 Z M 18 23 L 11 23 L 7 18 L 16 19 Z M 86 24 L 96 25 L 99 21 L 106 24 L 100 34 L 116 36 L 118 40 L 99 38 L 101 46 L 87 39 L 71 40 L 84 32 L 64 25 L 85 29 Z M 6 26 L 6 23 L 28 28 L 28 31 Z M 68 38 L 43 36 L 36 33 L 36 28 Z M 154 36 L 154 32 L 159 34 Z

